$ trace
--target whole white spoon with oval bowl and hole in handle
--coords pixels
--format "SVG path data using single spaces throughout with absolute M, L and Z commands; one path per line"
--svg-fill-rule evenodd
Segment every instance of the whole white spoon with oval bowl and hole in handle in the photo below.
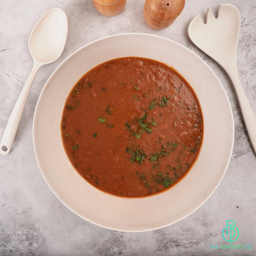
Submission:
M 34 65 L 2 135 L 0 142 L 1 154 L 7 155 L 10 153 L 36 73 L 42 65 L 52 63 L 60 57 L 66 44 L 67 34 L 68 18 L 65 12 L 58 8 L 50 9 L 34 26 L 28 40 L 28 47 Z

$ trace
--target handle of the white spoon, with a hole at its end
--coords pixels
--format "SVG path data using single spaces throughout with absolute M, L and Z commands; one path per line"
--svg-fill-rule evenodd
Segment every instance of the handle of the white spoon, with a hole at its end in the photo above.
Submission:
M 33 68 L 26 80 L 25 86 L 23 86 L 20 95 L 18 96 L 17 102 L 14 105 L 12 113 L 10 114 L 10 118 L 7 122 L 6 129 L 4 130 L 4 134 L 2 135 L 2 140 L 0 142 L 0 153 L 6 156 L 10 153 L 10 149 L 12 148 L 12 143 L 14 142 L 14 138 L 18 129 L 18 124 L 20 123 L 20 119 L 22 118 L 22 113 L 26 105 L 26 100 L 28 99 L 28 95 L 30 94 L 30 89 L 32 87 L 34 78 L 40 65 L 34 62 Z

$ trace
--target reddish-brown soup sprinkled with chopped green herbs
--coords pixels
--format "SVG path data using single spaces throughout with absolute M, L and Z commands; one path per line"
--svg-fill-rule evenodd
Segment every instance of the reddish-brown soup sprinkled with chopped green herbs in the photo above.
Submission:
M 66 154 L 100 190 L 148 196 L 180 181 L 196 160 L 202 113 L 188 82 L 164 63 L 102 63 L 71 90 L 62 115 Z

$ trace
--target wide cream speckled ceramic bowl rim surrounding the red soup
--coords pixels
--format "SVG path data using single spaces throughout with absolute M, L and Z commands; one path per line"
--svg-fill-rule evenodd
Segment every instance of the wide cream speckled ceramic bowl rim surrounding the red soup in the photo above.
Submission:
M 173 66 L 193 87 L 204 118 L 201 152 L 190 172 L 173 188 L 146 198 L 113 196 L 86 182 L 71 166 L 60 131 L 66 97 L 78 79 L 102 62 L 128 56 L 151 58 Z M 42 175 L 66 207 L 106 228 L 146 231 L 181 220 L 214 192 L 230 161 L 234 124 L 222 84 L 191 50 L 150 34 L 118 34 L 81 47 L 58 66 L 39 97 L 33 140 Z

